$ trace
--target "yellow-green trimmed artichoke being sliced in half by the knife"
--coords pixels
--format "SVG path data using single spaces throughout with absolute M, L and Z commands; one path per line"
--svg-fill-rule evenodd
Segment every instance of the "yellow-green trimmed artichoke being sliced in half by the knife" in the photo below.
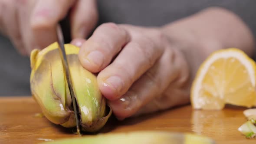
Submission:
M 99 91 L 97 77 L 80 64 L 77 55 L 79 48 L 65 44 L 65 51 L 82 131 L 98 131 L 108 121 L 112 111 Z M 75 127 L 72 98 L 58 43 L 53 43 L 43 50 L 34 49 L 30 62 L 31 93 L 45 117 L 54 124 L 61 124 L 66 128 Z

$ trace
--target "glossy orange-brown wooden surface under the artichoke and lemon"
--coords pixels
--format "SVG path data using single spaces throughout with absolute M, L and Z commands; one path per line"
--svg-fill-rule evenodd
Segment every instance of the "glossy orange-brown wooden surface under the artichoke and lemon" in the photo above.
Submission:
M 155 114 L 117 121 L 111 118 L 101 133 L 163 130 L 191 132 L 213 138 L 217 144 L 255 144 L 237 128 L 246 121 L 244 108 L 226 107 L 222 111 L 194 111 L 190 105 L 172 108 Z M 39 143 L 39 139 L 56 140 L 78 137 L 72 130 L 36 117 L 40 108 L 31 97 L 0 98 L 0 144 Z

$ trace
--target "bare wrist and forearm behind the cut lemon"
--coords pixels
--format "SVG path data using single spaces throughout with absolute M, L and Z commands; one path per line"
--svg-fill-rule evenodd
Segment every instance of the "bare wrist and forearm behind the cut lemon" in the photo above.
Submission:
M 213 51 L 236 47 L 249 56 L 254 41 L 249 28 L 234 13 L 208 8 L 192 16 L 161 27 L 169 42 L 181 50 L 194 78 L 201 62 Z

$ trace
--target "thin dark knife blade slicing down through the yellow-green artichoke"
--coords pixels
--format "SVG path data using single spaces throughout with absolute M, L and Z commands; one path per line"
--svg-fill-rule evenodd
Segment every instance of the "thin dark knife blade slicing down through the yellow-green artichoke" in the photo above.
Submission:
M 73 108 L 74 108 L 74 115 L 75 115 L 75 122 L 76 122 L 76 130 L 77 130 L 77 134 L 80 134 L 80 123 L 79 123 L 79 113 L 77 111 L 77 103 L 75 100 L 75 92 L 74 92 L 74 88 L 72 85 L 72 80 L 71 80 L 71 75 L 70 75 L 70 70 L 69 70 L 69 63 L 67 60 L 67 56 L 66 56 L 66 51 L 65 51 L 65 47 L 64 47 L 64 37 L 63 37 L 63 29 L 62 29 L 62 23 L 59 23 L 56 27 L 56 34 L 57 34 L 57 42 L 59 43 L 59 52 L 60 52 L 60 56 L 62 56 L 62 63 L 63 63 L 63 69 L 64 69 L 64 73 L 66 75 L 67 78 L 67 83 L 68 83 L 68 87 L 69 87 L 69 92 L 72 98 L 72 104 L 73 104 Z

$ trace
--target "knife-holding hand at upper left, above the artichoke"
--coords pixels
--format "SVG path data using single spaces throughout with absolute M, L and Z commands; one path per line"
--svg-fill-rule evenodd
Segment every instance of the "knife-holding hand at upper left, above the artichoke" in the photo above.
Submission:
M 95 0 L 1 0 L 0 32 L 23 55 L 56 41 L 56 24 L 71 10 L 72 38 L 85 38 L 95 27 Z

